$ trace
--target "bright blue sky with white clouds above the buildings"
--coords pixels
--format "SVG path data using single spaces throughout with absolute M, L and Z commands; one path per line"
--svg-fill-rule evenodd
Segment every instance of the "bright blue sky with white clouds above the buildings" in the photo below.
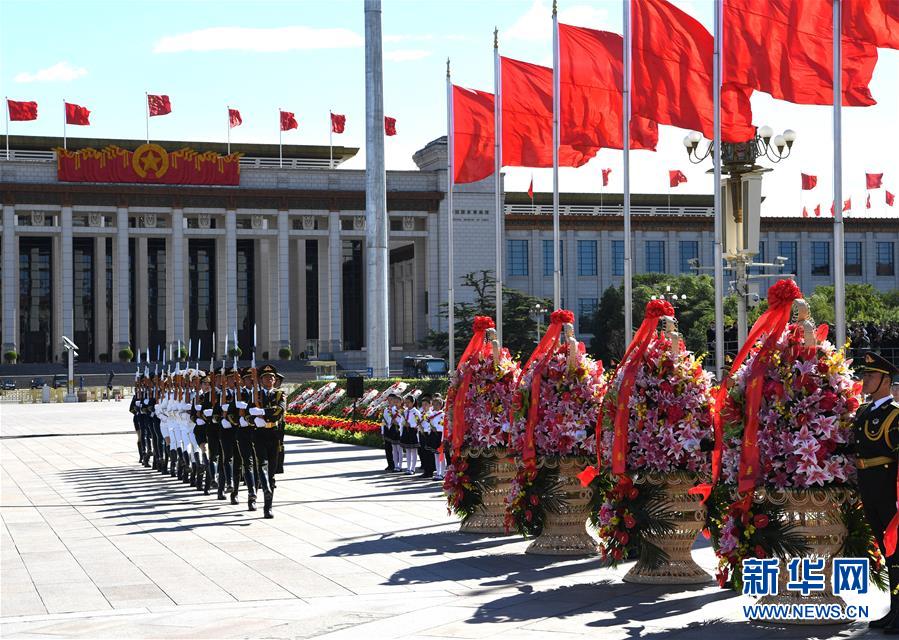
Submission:
M 335 144 L 364 147 L 364 51 L 362 0 L 107 0 L 0 2 L 0 93 L 37 100 L 39 120 L 13 123 L 11 133 L 60 135 L 62 101 L 92 111 L 90 128 L 69 135 L 141 138 L 144 92 L 166 93 L 173 113 L 150 122 L 156 139 L 217 140 L 226 135 L 226 106 L 244 124 L 233 142 L 278 140 L 277 110 L 296 113 L 298 131 L 285 143 L 327 144 L 328 110 L 347 116 Z M 675 4 L 709 29 L 710 0 Z M 446 133 L 446 58 L 453 80 L 493 90 L 493 28 L 503 55 L 551 64 L 551 0 L 384 0 L 384 92 L 387 115 L 398 135 L 387 139 L 388 168 L 413 168 L 412 154 Z M 621 31 L 619 0 L 560 0 L 563 22 Z M 880 50 L 872 81 L 874 107 L 843 110 L 845 197 L 853 214 L 899 215 L 872 192 L 865 212 L 864 172 L 885 172 L 899 191 L 899 51 Z M 830 108 L 798 106 L 756 93 L 756 124 L 799 134 L 793 157 L 765 177 L 766 213 L 798 215 L 831 202 Z M 632 189 L 666 193 L 667 170 L 684 171 L 678 191 L 710 193 L 709 165 L 690 165 L 684 131 L 660 127 L 657 153 L 632 154 Z M 364 167 L 364 149 L 348 163 Z M 561 170 L 563 191 L 596 191 L 601 167 L 612 167 L 609 190 L 621 189 L 621 152 L 604 150 L 580 169 Z M 819 177 L 815 191 L 801 194 L 799 173 Z M 531 176 L 538 191 L 552 188 L 551 171 L 508 169 L 507 188 L 525 190 Z

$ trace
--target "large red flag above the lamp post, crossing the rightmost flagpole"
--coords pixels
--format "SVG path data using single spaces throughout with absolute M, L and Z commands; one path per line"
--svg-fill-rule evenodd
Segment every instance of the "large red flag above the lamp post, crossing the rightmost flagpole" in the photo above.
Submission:
M 851 3 L 844 3 L 851 4 Z M 876 104 L 877 48 L 843 36 L 843 104 Z M 833 104 L 833 5 L 821 0 L 727 0 L 724 82 L 797 104 Z

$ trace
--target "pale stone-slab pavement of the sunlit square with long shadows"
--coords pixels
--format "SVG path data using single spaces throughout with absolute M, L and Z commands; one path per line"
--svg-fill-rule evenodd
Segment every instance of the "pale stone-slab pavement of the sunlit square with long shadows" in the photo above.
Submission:
M 879 635 L 749 624 L 715 586 L 460 534 L 438 483 L 381 473 L 371 449 L 289 438 L 263 520 L 138 466 L 129 427 L 124 402 L 0 407 L 3 638 Z M 707 543 L 694 555 L 712 569 Z

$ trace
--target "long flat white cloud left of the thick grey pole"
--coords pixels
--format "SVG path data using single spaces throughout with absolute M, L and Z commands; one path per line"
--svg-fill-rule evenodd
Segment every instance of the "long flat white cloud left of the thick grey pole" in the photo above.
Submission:
M 210 27 L 160 38 L 153 53 L 181 51 L 291 51 L 294 49 L 350 49 L 365 40 L 349 29 L 312 27 Z

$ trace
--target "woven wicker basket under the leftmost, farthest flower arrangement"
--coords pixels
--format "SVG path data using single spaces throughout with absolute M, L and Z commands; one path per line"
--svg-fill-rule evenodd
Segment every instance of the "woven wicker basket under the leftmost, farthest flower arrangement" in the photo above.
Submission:
M 459 531 L 481 535 L 506 535 L 505 499 L 515 479 L 515 460 L 509 457 L 505 448 L 501 447 L 466 447 L 462 450 L 462 458 L 469 469 L 473 463 L 480 463 L 484 474 L 479 487 L 481 503 L 470 515 L 463 518 Z

